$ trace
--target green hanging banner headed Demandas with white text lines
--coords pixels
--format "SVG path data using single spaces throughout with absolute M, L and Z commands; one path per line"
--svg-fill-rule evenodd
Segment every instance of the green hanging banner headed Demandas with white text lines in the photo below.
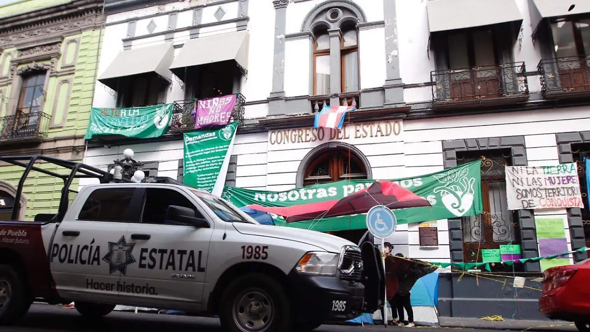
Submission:
M 238 122 L 184 134 L 183 183 L 221 195 Z

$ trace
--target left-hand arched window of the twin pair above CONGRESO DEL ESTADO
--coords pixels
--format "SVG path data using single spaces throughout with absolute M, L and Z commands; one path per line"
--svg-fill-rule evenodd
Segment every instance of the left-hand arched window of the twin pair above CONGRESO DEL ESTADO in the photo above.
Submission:
M 330 37 L 326 27 L 314 31 L 313 93 L 316 96 L 330 93 Z

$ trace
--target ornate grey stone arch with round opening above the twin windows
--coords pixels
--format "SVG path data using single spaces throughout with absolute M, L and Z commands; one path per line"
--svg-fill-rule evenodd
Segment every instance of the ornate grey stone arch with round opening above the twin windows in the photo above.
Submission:
M 337 11 L 335 19 L 329 17 L 329 13 Z M 307 13 L 301 24 L 301 32 L 312 31 L 319 22 L 326 24 L 330 29 L 337 29 L 342 22 L 355 20 L 357 23 L 367 21 L 365 12 L 358 4 L 351 0 L 327 0 L 313 7 Z

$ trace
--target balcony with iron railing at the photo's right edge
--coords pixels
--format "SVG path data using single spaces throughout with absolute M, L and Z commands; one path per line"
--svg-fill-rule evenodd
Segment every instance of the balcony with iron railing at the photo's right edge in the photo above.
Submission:
M 543 59 L 539 73 L 547 99 L 590 96 L 590 56 Z

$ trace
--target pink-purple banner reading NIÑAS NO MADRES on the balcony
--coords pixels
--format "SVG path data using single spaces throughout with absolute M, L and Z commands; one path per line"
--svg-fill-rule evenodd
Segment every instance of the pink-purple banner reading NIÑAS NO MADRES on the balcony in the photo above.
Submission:
M 195 129 L 227 125 L 236 99 L 236 95 L 228 95 L 197 100 L 193 112 Z

